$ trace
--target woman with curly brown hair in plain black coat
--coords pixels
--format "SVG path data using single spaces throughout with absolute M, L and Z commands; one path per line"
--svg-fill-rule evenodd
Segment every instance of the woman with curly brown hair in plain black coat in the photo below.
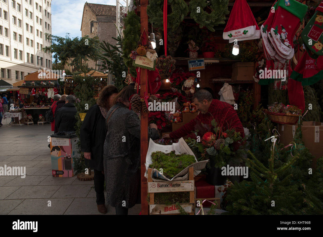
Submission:
M 97 206 L 100 213 L 107 213 L 103 169 L 103 143 L 107 134 L 105 120 L 117 93 L 115 86 L 103 88 L 97 104 L 86 113 L 80 129 L 81 151 L 84 152 L 85 164 L 94 169 L 94 189 L 97 193 Z

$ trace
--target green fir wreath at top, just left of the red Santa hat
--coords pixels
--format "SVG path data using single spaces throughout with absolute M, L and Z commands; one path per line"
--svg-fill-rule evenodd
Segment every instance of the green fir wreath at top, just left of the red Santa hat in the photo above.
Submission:
M 214 26 L 225 24 L 225 15 L 230 13 L 228 3 L 229 0 L 191 0 L 189 3 L 190 16 L 196 23 L 200 24 L 200 28 L 205 26 L 214 32 Z M 200 7 L 200 11 L 198 11 L 197 7 Z M 204 11 L 205 7 L 210 8 L 211 13 Z

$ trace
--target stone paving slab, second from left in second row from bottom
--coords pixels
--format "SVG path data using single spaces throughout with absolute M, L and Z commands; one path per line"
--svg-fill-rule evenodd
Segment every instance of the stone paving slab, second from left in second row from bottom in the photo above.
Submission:
M 61 187 L 61 185 L 37 185 L 22 186 L 17 191 L 10 194 L 6 199 L 32 199 L 32 198 L 50 198 Z

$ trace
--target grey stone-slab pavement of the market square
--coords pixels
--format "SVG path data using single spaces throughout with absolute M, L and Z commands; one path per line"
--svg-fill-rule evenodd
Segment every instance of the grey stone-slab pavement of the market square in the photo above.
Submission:
M 96 193 L 92 181 L 74 177 L 52 177 L 49 142 L 53 134 L 49 124 L 0 128 L 0 166 L 25 166 L 26 177 L 0 176 L 1 215 L 96 215 Z M 48 207 L 51 201 L 51 207 Z M 141 211 L 137 204 L 129 214 Z M 108 213 L 115 214 L 114 207 Z

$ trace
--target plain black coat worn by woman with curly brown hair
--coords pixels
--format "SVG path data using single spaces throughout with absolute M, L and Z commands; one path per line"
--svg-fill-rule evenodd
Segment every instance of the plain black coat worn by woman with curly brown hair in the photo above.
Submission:
M 80 129 L 81 151 L 91 152 L 91 160 L 85 164 L 95 170 L 103 171 L 103 144 L 107 128 L 100 107 L 93 105 L 86 113 Z

